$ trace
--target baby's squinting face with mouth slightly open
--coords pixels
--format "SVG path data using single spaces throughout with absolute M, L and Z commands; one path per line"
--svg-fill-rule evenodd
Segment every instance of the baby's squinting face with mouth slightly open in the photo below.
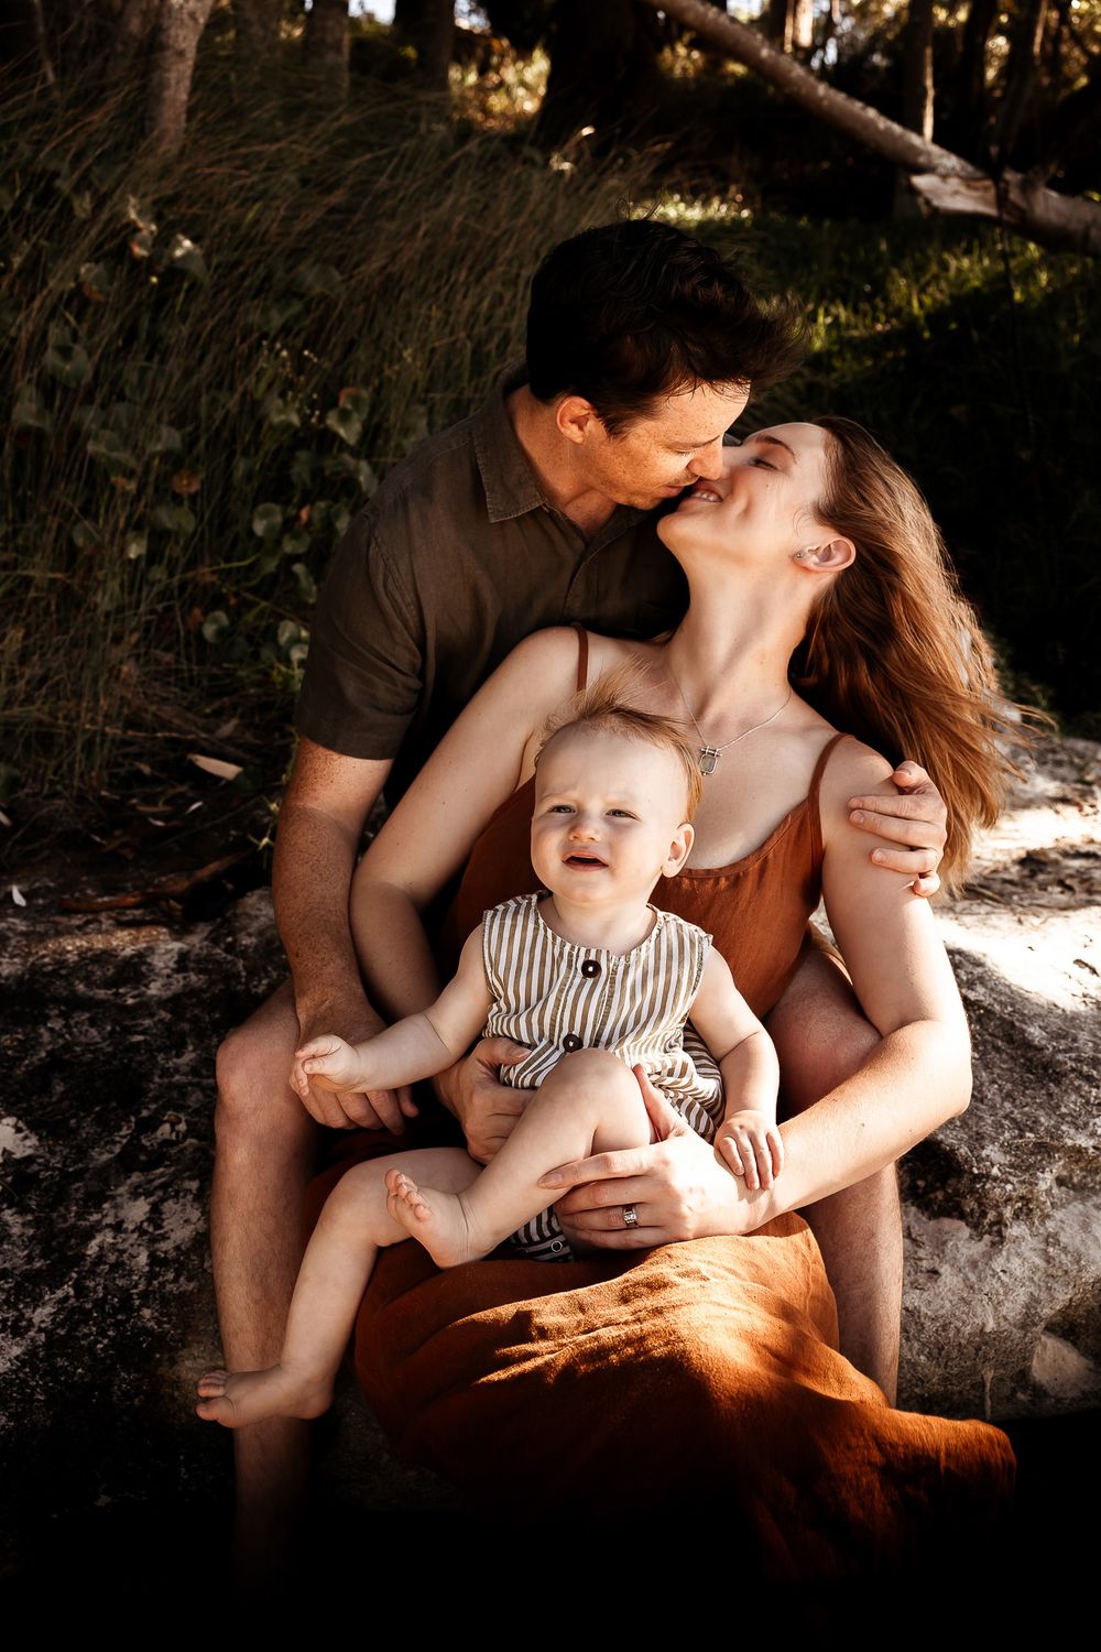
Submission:
M 685 778 L 672 752 L 626 735 L 568 729 L 535 773 L 532 864 L 569 900 L 645 900 L 692 846 Z

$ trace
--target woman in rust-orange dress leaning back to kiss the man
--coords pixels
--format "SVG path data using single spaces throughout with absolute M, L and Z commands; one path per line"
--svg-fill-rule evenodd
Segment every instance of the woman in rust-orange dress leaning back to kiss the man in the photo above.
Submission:
M 944 1477 L 954 1482 L 961 1508 L 967 1487 L 985 1497 L 1005 1485 L 1000 1436 L 888 1412 L 875 1386 L 832 1353 L 820 1259 L 791 1213 L 890 1166 L 969 1099 L 967 1028 L 934 920 L 901 877 L 868 866 L 867 843 L 848 823 L 848 798 L 888 790 L 891 762 L 873 745 L 890 758 L 913 753 L 938 781 L 949 808 L 943 867 L 949 881 L 961 876 L 971 828 L 994 818 L 1007 765 L 995 742 L 989 653 L 946 575 L 928 509 L 857 426 L 827 420 L 756 433 L 728 449 L 721 481 L 698 484 L 660 532 L 688 578 L 688 615 L 660 643 L 589 638 L 584 662 L 589 681 L 624 664 L 644 667 L 639 702 L 690 722 L 698 733 L 705 781 L 697 843 L 687 872 L 659 885 L 654 902 L 715 933 L 743 995 L 766 1016 L 796 968 L 820 889 L 878 1039 L 853 1079 L 784 1125 L 787 1165 L 773 1188 L 728 1175 L 698 1138 L 650 1104 L 660 1133 L 697 1166 L 695 1234 L 753 1239 L 733 1249 L 731 1241 L 705 1244 L 703 1254 L 693 1254 L 697 1246 L 659 1251 L 665 1270 L 659 1275 L 647 1275 L 647 1264 L 624 1249 L 612 1262 L 566 1270 L 576 1285 L 533 1279 L 536 1264 L 494 1262 L 431 1280 L 431 1270 L 401 1254 L 413 1247 L 399 1247 L 366 1297 L 360 1374 L 375 1409 L 411 1452 L 494 1493 L 536 1475 L 561 1500 L 578 1485 L 566 1442 L 574 1452 L 596 1450 L 604 1472 L 612 1464 L 616 1483 L 631 1485 L 636 1497 L 645 1495 L 650 1470 L 659 1477 L 659 1500 L 683 1487 L 687 1475 L 695 1488 L 710 1483 L 716 1493 L 735 1495 L 730 1417 L 751 1412 L 756 1472 L 738 1474 L 736 1502 L 763 1564 L 782 1569 L 791 1526 L 779 1545 L 764 1533 L 774 1531 L 776 1498 L 787 1498 L 787 1513 L 802 1531 L 799 1564 L 814 1548 L 806 1520 L 801 1525 L 802 1517 L 792 1513 L 799 1497 L 792 1502 L 777 1487 L 806 1488 L 791 1452 L 806 1462 L 807 1452 L 820 1450 L 825 1422 L 815 1408 L 824 1396 L 830 1452 L 843 1467 L 834 1462 L 822 1482 L 829 1493 L 815 1508 L 820 1515 L 830 1498 L 845 1503 L 830 1517 L 847 1535 L 843 1543 L 852 1545 L 857 1531 L 872 1546 L 910 1541 L 916 1526 L 905 1510 L 913 1513 L 914 1487 L 919 1497 L 929 1495 L 929 1462 L 936 1462 L 938 1487 Z M 353 887 L 353 927 L 368 981 L 390 1014 L 406 1014 L 434 996 L 437 975 L 419 914 L 464 862 L 452 910 L 459 938 L 484 907 L 533 887 L 527 864 L 533 753 L 546 714 L 578 686 L 578 638 L 569 631 L 520 644 L 365 856 Z M 839 735 L 827 717 L 860 738 Z M 578 1178 L 622 1176 L 617 1203 L 591 1211 L 588 1221 L 617 1226 L 631 1249 L 657 1237 L 647 1221 L 649 1183 L 636 1170 L 631 1155 L 614 1155 L 611 1163 L 568 1168 L 558 1183 L 566 1189 Z M 571 1237 L 576 1227 L 568 1227 Z M 624 1394 L 622 1379 L 609 1388 L 609 1373 L 624 1358 L 636 1363 L 640 1356 L 631 1332 L 624 1353 L 616 1327 L 642 1323 L 649 1327 L 644 1345 L 652 1345 L 652 1298 L 667 1300 L 670 1270 L 682 1277 L 683 1295 L 683 1270 L 700 1265 L 705 1294 L 716 1292 L 713 1335 L 725 1348 L 718 1399 L 710 1376 L 703 1391 L 692 1381 L 685 1388 L 693 1361 L 685 1365 L 683 1348 L 711 1348 L 711 1340 L 700 1343 L 697 1327 L 685 1341 L 677 1303 L 665 1325 L 672 1363 L 659 1361 L 657 1374 L 632 1373 L 632 1393 Z M 698 1282 L 692 1290 L 698 1295 Z M 589 1292 L 596 1295 L 586 1300 Z M 730 1328 L 748 1303 L 758 1318 L 743 1325 L 731 1348 Z M 520 1333 L 510 1332 L 502 1343 L 502 1327 L 517 1315 Z M 429 1327 L 432 1358 L 426 1361 L 418 1350 Z M 579 1327 L 596 1346 L 594 1361 L 578 1363 Z M 442 1363 L 441 1346 L 447 1350 Z M 753 1363 L 761 1348 L 768 1350 L 764 1366 Z M 749 1350 L 753 1370 L 744 1363 Z M 586 1381 L 578 1386 L 581 1370 Z M 716 1434 L 697 1416 L 687 1432 L 675 1431 L 675 1449 L 662 1454 L 660 1467 L 649 1464 L 642 1474 L 632 1452 L 640 1419 L 650 1414 L 652 1381 L 659 1393 L 672 1381 L 677 1406 L 683 1401 L 690 1416 L 713 1424 L 718 1412 L 723 1421 Z M 533 1446 L 536 1431 L 525 1411 L 533 1393 L 545 1401 L 548 1388 L 555 1406 L 543 1404 L 540 1427 L 548 1426 Z M 581 1412 L 576 1394 L 584 1396 Z M 594 1427 L 598 1412 L 601 1427 Z M 789 1437 L 796 1417 L 801 1422 Z M 492 1462 L 484 1452 L 472 1455 L 464 1441 L 480 1429 L 507 1437 L 512 1452 L 494 1454 Z M 870 1441 L 878 1464 L 873 1497 L 877 1507 L 891 1508 L 885 1538 L 868 1526 L 868 1482 L 853 1470 L 857 1460 L 867 1470 Z M 748 1447 L 749 1436 L 738 1432 L 735 1457 L 743 1470 Z M 749 1485 L 768 1487 L 761 1492 L 764 1521 L 753 1512 Z M 842 1497 L 839 1487 L 852 1495 Z

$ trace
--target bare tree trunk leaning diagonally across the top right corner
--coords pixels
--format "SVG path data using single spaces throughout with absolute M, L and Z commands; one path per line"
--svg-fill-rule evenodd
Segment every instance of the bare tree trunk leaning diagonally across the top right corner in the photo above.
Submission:
M 1000 216 L 1009 228 L 1043 246 L 1061 246 L 1101 258 L 1101 206 L 1093 202 L 1056 195 L 1032 173 L 1022 177 L 1005 172 L 997 188 L 994 180 L 969 160 L 952 155 L 919 132 L 908 132 L 905 126 L 888 121 L 855 97 L 835 91 L 801 63 L 774 51 L 754 30 L 735 23 L 733 18 L 718 17 L 702 0 L 644 0 L 644 5 L 660 8 L 678 23 L 715 41 L 731 58 L 756 69 L 769 84 L 794 97 L 820 121 L 829 121 L 857 142 L 918 173 L 911 178 L 913 188 L 941 211 Z M 952 183 L 961 187 L 949 187 Z

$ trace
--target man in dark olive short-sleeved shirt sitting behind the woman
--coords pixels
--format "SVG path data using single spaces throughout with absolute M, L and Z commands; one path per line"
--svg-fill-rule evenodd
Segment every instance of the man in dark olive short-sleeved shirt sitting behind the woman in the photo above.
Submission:
M 479 684 L 530 631 L 569 621 L 652 636 L 687 593 L 654 532 L 655 514 L 718 477 L 725 433 L 749 387 L 794 367 L 799 324 L 761 307 L 716 253 L 652 221 L 589 230 L 558 246 L 532 286 L 527 362 L 474 418 L 398 466 L 348 530 L 325 580 L 297 709 L 300 745 L 279 819 L 274 900 L 292 981 L 220 1052 L 211 1239 L 224 1355 L 271 1365 L 300 1249 L 317 1125 L 403 1128 L 408 1095 L 343 1107 L 304 1104 L 287 1075 L 299 1041 L 381 1026 L 360 981 L 348 885 L 366 818 L 408 785 Z M 911 767 L 913 770 L 913 767 Z M 943 805 L 919 770 L 919 800 L 867 801 L 868 829 L 896 844 L 885 864 L 936 887 Z M 933 874 L 928 877 L 926 874 Z M 812 958 L 771 1018 L 794 1107 L 860 1066 L 877 1034 L 840 976 Z M 518 1092 L 497 1084 L 490 1041 L 439 1080 L 480 1160 L 515 1123 Z M 692 1189 L 654 1158 L 647 1206 L 669 1239 L 690 1229 Z M 565 1201 L 594 1244 L 601 1186 Z M 830 1206 L 835 1206 L 830 1214 Z M 893 1173 L 815 1211 L 848 1356 L 893 1393 L 901 1236 Z M 853 1302 L 858 1312 L 853 1313 Z M 305 1464 L 305 1427 L 243 1431 L 238 1490 L 244 1548 L 276 1553 Z

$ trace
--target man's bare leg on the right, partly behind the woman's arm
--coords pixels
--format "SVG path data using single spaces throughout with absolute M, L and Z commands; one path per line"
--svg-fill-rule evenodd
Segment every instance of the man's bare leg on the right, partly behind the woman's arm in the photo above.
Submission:
M 852 1077 L 880 1042 L 839 965 L 807 948 L 768 1018 L 779 1052 L 782 1104 L 801 1113 Z M 885 1097 L 885 1105 L 890 1099 Z M 801 1211 L 819 1241 L 847 1360 L 898 1396 L 903 1227 L 893 1165 Z

